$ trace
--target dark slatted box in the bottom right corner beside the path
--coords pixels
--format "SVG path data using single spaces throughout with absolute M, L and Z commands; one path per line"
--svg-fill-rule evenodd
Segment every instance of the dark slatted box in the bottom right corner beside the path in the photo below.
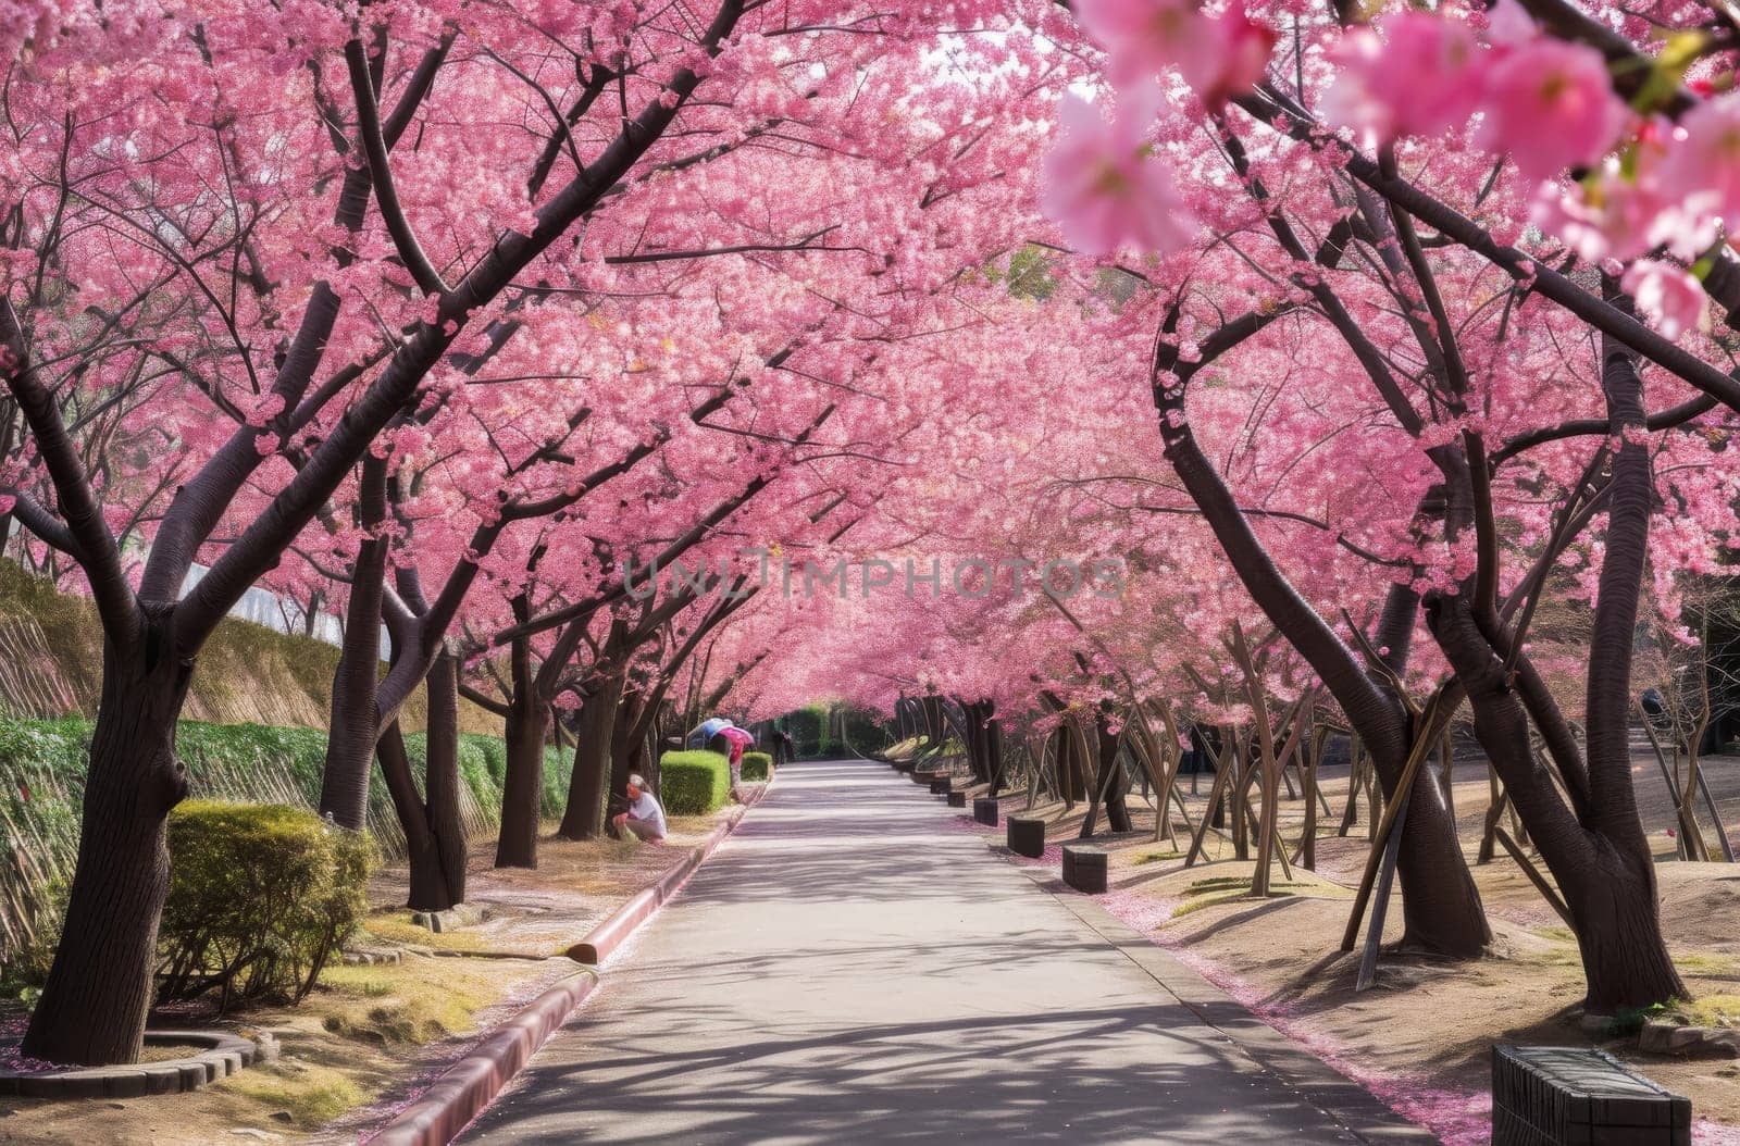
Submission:
M 1493 1146 L 1690 1146 L 1691 1099 L 1604 1050 L 1493 1047 Z

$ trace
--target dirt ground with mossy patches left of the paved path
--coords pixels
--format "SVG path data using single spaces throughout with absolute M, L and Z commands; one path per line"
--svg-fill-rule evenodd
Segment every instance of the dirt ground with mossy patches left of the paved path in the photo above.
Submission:
M 466 903 L 482 920 L 442 934 L 414 925 L 402 908 L 402 868 L 378 871 L 369 883 L 369 920 L 346 949 L 397 951 L 398 963 L 332 967 L 299 1007 L 249 1007 L 223 1019 L 190 1010 L 153 1017 L 153 1026 L 271 1031 L 284 1047 L 278 1063 L 193 1094 L 0 1099 L 0 1144 L 355 1143 L 484 1033 L 576 974 L 562 949 L 677 864 L 719 817 L 673 816 L 663 845 L 546 836 L 538 871 L 496 871 L 494 840 L 477 840 Z M 19 1024 L 21 1016 L 0 1014 L 0 1029 Z

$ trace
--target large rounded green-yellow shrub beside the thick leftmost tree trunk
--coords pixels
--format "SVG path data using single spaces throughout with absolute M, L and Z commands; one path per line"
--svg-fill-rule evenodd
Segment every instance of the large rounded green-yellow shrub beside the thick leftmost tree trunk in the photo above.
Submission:
M 191 800 L 169 814 L 158 1000 L 301 1002 L 367 911 L 367 835 L 284 803 Z

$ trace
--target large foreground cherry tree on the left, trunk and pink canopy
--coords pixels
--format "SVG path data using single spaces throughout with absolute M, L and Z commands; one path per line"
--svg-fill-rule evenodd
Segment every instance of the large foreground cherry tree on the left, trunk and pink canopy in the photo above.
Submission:
M 218 619 L 304 529 L 346 520 L 334 497 L 385 433 L 414 433 L 534 311 L 592 292 L 588 243 L 618 210 L 670 250 L 656 221 L 675 176 L 800 132 L 813 101 L 849 99 L 858 61 L 927 66 L 934 28 L 914 16 L 734 0 L 5 14 L 21 56 L 0 341 L 30 430 L 7 496 L 78 563 L 106 643 L 78 876 L 30 1054 L 137 1054 L 164 816 L 186 788 L 174 722 Z M 955 16 L 1007 24 L 992 5 Z M 870 122 L 896 94 L 856 104 Z M 146 376 L 193 412 L 134 572 L 117 543 L 132 510 L 92 476 L 57 395 Z M 209 572 L 183 595 L 195 560 Z M 405 678 L 444 628 L 402 654 Z

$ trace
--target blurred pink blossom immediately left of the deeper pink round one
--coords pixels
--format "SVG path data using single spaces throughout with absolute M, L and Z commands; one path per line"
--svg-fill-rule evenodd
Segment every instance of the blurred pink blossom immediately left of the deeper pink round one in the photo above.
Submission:
M 1436 136 L 1472 115 L 1479 56 L 1467 24 L 1423 12 L 1355 28 L 1335 49 L 1342 71 L 1324 92 L 1324 117 L 1378 143 Z

